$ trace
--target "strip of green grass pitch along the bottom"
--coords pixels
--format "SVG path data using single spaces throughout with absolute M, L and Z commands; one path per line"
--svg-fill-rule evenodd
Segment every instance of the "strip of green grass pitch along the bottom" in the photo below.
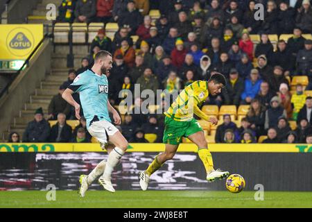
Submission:
M 46 191 L 0 191 L 3 207 L 312 207 L 312 192 L 265 191 L 264 200 L 254 200 L 255 191 L 56 191 L 56 200 L 46 200 Z

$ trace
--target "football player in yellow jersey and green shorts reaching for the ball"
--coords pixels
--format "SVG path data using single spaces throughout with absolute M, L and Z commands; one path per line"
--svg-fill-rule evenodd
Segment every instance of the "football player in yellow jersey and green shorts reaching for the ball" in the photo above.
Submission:
M 206 179 L 208 182 L 223 179 L 229 175 L 227 171 L 214 169 L 214 163 L 207 147 L 204 132 L 198 121 L 193 117 L 193 114 L 196 114 L 201 119 L 205 119 L 205 121 L 217 125 L 218 119 L 207 117 L 207 115 L 198 108 L 198 105 L 204 102 L 209 94 L 212 96 L 220 94 L 221 89 L 225 87 L 225 85 L 225 77 L 223 74 L 219 73 L 211 76 L 208 81 L 196 81 L 185 87 L 172 103 L 171 107 L 164 112 L 166 119 L 163 142 L 166 144 L 166 148 L 164 153 L 155 157 L 155 160 L 146 171 L 140 173 L 139 179 L 141 189 L 145 191 L 148 187 L 150 176 L 162 167 L 164 162 L 173 159 L 182 141 L 182 137 L 189 138 L 191 142 L 198 146 L 198 155 L 205 166 L 207 172 Z

